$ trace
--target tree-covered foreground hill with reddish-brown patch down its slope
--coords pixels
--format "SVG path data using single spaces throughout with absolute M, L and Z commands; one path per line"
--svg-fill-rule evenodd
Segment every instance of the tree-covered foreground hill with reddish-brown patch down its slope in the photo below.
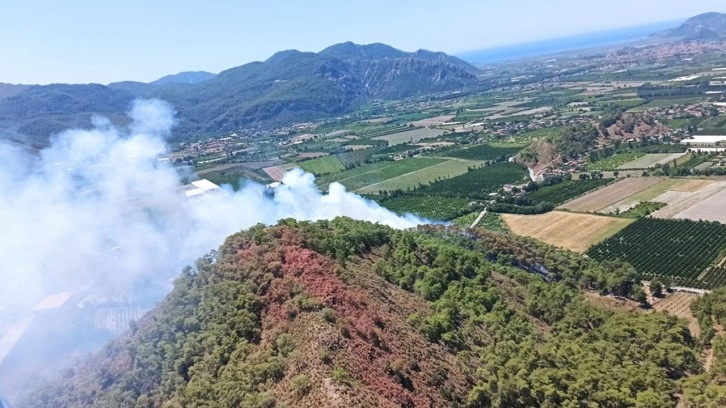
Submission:
M 284 220 L 229 237 L 23 406 L 723 406 L 713 330 L 705 371 L 684 321 L 588 300 L 640 288 L 626 263 L 495 232 Z

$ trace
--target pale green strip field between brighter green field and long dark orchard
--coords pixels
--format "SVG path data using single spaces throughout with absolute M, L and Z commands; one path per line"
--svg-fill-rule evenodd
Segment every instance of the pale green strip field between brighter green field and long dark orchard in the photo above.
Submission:
M 421 160 L 421 159 L 419 159 Z M 384 191 L 408 191 L 416 188 L 446 180 L 467 173 L 470 169 L 480 167 L 480 162 L 468 160 L 448 160 L 433 166 L 414 170 L 400 176 L 395 176 L 384 181 L 369 184 L 358 189 L 363 194 L 380 194 Z

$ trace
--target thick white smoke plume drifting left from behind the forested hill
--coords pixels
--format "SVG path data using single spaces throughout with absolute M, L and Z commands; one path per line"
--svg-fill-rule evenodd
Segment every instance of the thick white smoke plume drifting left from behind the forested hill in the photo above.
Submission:
M 189 200 L 159 160 L 172 109 L 137 101 L 130 117 L 125 128 L 98 119 L 91 130 L 63 132 L 39 155 L 0 145 L 0 309 L 89 284 L 119 296 L 144 282 L 168 284 L 226 236 L 260 222 L 345 215 L 396 228 L 421 223 L 339 184 L 321 194 L 299 170 L 274 195 L 248 184 Z

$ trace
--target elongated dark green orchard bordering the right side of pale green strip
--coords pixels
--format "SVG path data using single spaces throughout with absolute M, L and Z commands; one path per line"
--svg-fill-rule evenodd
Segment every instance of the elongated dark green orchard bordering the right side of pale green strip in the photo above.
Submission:
M 417 194 L 487 198 L 490 192 L 505 184 L 519 184 L 527 180 L 523 166 L 502 162 L 423 187 L 417 190 Z

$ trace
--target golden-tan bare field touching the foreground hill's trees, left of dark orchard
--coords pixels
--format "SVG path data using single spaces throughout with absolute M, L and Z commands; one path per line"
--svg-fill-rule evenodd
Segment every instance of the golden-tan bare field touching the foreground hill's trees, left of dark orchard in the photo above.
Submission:
M 538 215 L 501 214 L 501 217 L 514 234 L 532 237 L 575 252 L 586 251 L 632 222 L 625 218 L 564 211 Z

